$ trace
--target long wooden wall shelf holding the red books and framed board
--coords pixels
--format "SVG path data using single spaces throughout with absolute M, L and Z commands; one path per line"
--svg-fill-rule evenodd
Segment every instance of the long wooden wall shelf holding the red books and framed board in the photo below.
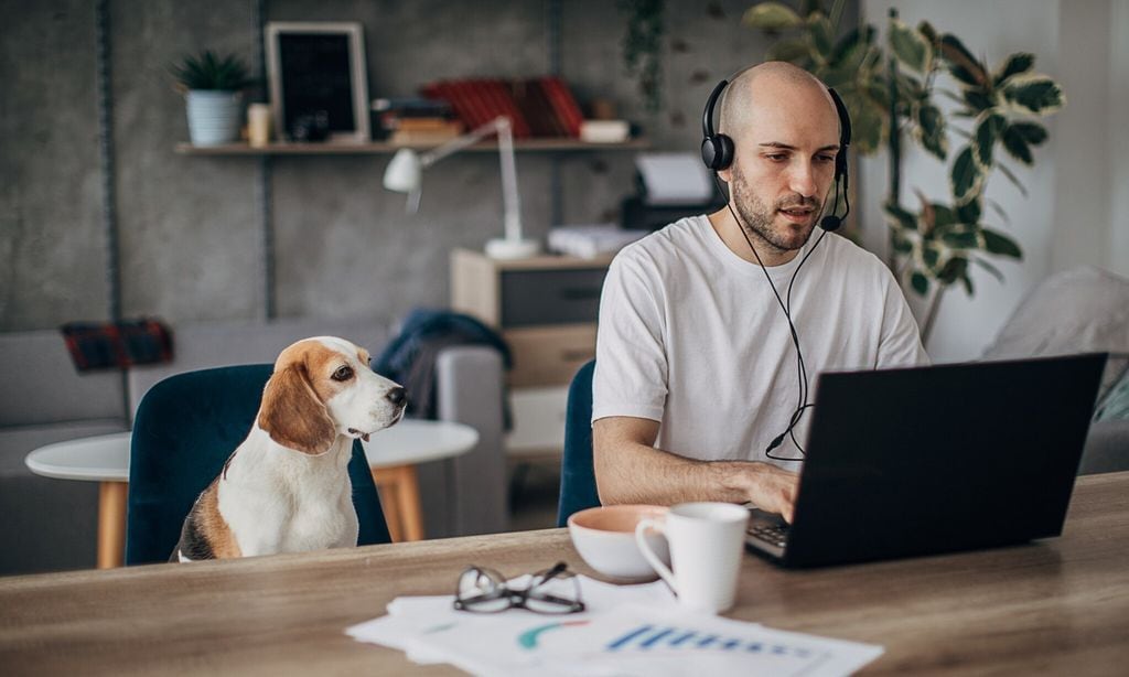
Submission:
M 428 146 L 394 146 L 392 143 L 271 143 L 263 148 L 252 148 L 246 143 L 227 143 L 225 146 L 192 146 L 177 143 L 178 155 L 190 156 L 286 156 L 286 155 L 385 155 L 401 148 L 428 150 Z M 650 148 L 647 139 L 632 139 L 622 143 L 589 143 L 576 139 L 522 139 L 514 141 L 517 152 L 569 152 L 592 150 L 646 150 Z M 498 152 L 498 144 L 492 141 L 475 143 L 462 152 Z

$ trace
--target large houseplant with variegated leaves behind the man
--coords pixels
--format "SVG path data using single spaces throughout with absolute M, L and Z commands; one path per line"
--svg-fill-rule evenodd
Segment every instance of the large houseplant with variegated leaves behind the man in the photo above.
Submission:
M 1032 71 L 1033 54 L 1010 54 L 990 69 L 960 38 L 938 33 L 927 21 L 910 27 L 891 10 L 883 45 L 870 24 L 842 32 L 842 12 L 843 0 L 834 0 L 830 11 L 820 0 L 804 0 L 796 9 L 760 2 L 742 20 L 777 38 L 765 59 L 796 63 L 839 91 L 851 114 L 852 144 L 860 152 L 889 148 L 890 186 L 883 208 L 890 225 L 890 264 L 903 287 L 928 298 L 922 326 L 927 338 L 943 292 L 956 282 L 973 292 L 970 265 L 1003 280 L 988 256 L 1022 257 L 1012 237 L 988 227 L 988 178 L 998 169 L 1025 194 L 1003 160 L 1032 166 L 1033 149 L 1048 138 L 1038 118 L 1061 108 L 1066 99 L 1053 79 Z M 955 107 L 943 108 L 936 95 Z M 955 124 L 957 120 L 964 122 Z M 963 139 L 955 153 L 948 148 L 951 132 Z M 917 205 L 903 204 L 905 137 L 946 162 L 947 202 L 918 193 Z M 988 204 L 1007 221 L 998 204 Z

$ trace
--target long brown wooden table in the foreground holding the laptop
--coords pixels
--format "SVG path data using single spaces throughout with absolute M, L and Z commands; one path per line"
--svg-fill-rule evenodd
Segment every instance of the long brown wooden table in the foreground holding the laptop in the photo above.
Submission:
M 563 529 L 0 579 L 0 671 L 450 674 L 352 641 L 401 595 L 449 594 L 467 563 L 518 574 Z M 809 571 L 753 556 L 727 616 L 883 644 L 865 674 L 1124 675 L 1129 473 L 1079 480 L 1061 538 Z

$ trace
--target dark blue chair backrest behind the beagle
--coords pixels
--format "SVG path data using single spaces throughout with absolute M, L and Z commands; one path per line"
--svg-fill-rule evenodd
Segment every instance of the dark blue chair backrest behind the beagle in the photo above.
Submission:
M 271 364 L 190 371 L 154 386 L 138 406 L 130 446 L 125 563 L 166 562 L 196 496 L 251 430 Z M 360 442 L 349 461 L 358 545 L 391 543 Z

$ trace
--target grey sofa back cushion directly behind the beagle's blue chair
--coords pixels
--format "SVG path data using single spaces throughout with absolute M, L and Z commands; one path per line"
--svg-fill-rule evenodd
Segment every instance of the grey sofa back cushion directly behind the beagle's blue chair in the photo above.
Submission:
M 333 319 L 303 317 L 270 323 L 205 323 L 173 327 L 173 361 L 130 369 L 130 420 L 149 388 L 175 373 L 230 367 L 274 363 L 282 350 L 310 336 L 340 336 L 378 351 L 387 340 L 388 322 L 378 319 Z

